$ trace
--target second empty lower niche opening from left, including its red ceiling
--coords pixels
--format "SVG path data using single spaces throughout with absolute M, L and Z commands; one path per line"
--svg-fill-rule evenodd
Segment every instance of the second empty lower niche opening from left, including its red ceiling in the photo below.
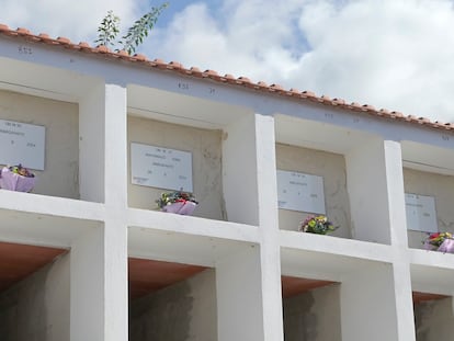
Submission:
M 214 269 L 129 258 L 129 340 L 217 340 Z

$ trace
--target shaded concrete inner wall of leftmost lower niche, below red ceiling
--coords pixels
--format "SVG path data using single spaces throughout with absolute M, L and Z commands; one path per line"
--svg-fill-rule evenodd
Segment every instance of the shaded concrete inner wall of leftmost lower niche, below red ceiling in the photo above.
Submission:
M 2 341 L 69 340 L 69 254 L 0 294 Z

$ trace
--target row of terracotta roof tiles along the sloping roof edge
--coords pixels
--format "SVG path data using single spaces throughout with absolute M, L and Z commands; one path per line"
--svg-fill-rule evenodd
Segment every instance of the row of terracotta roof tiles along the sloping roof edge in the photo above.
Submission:
M 198 68 L 195 68 L 195 67 L 191 67 L 189 69 L 184 68 L 183 65 L 177 61 L 166 62 L 161 59 L 155 59 L 151 61 L 145 55 L 138 54 L 138 55 L 129 56 L 124 50 L 112 52 L 106 46 L 100 45 L 100 46 L 92 47 L 88 43 L 75 44 L 66 37 L 58 37 L 54 39 L 44 33 L 41 33 L 39 35 L 34 35 L 24 27 L 19 27 L 18 30 L 14 31 L 14 30 L 11 30 L 8 25 L 0 23 L 0 34 L 8 35 L 8 36 L 20 36 L 27 41 L 38 42 L 38 43 L 43 43 L 47 45 L 61 46 L 65 48 L 75 49 L 75 50 L 79 50 L 79 52 L 87 53 L 87 54 L 98 54 L 98 55 L 102 54 L 105 57 L 111 57 L 115 59 L 124 59 L 130 62 L 141 62 L 152 68 L 182 72 L 191 77 L 209 78 L 215 81 L 227 82 L 234 86 L 247 87 L 250 89 L 254 89 L 257 91 L 266 91 L 266 92 L 275 93 L 277 95 L 299 98 L 303 101 L 313 101 L 313 102 L 318 102 L 321 104 L 336 105 L 339 109 L 349 110 L 349 111 L 360 111 L 360 112 L 364 112 L 364 113 L 367 113 L 374 116 L 384 117 L 384 118 L 391 118 L 396 121 L 408 122 L 411 124 L 424 125 L 428 127 L 433 127 L 433 128 L 443 129 L 443 130 L 454 129 L 454 124 L 451 124 L 451 123 L 440 123 L 438 121 L 432 122 L 429 118 L 416 117 L 413 115 L 405 116 L 400 112 L 390 112 L 386 109 L 376 110 L 374 106 L 370 104 L 360 104 L 356 102 L 349 104 L 349 103 L 345 103 L 345 101 L 342 99 L 331 100 L 327 95 L 318 96 L 311 91 L 299 92 L 299 90 L 297 89 L 285 90 L 283 87 L 279 84 L 268 86 L 263 81 L 259 81 L 254 83 L 247 77 L 235 78 L 234 76 L 228 75 L 228 73 L 225 76 L 219 76 L 214 70 L 205 70 L 202 72 Z

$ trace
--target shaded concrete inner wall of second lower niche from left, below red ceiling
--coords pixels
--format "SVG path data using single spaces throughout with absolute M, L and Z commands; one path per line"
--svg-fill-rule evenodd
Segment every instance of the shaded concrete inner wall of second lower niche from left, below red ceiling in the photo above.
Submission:
M 129 341 L 217 340 L 214 270 L 130 303 Z

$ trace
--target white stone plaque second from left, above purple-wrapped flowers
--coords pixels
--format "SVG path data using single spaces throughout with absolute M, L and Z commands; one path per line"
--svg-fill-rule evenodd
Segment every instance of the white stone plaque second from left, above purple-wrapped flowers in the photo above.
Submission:
M 192 154 L 141 144 L 130 144 L 132 183 L 193 192 Z

